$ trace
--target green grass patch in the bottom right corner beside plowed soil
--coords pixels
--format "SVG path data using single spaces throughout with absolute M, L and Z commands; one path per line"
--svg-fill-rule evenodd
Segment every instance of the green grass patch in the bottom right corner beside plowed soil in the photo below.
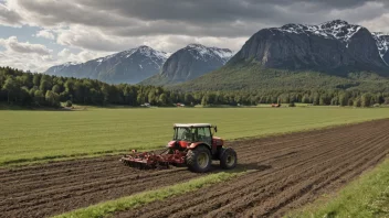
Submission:
M 319 198 L 285 217 L 389 217 L 389 159 L 347 185 L 334 198 Z

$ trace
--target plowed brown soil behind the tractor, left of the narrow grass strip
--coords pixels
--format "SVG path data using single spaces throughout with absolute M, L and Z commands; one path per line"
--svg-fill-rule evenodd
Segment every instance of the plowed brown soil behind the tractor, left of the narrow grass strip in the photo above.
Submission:
M 48 217 L 199 176 L 186 168 L 139 171 L 119 156 L 0 172 L 0 217 Z

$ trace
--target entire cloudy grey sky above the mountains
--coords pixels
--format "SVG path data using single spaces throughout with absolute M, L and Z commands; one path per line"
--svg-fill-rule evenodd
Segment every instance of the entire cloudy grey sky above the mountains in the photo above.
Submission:
M 335 19 L 389 32 L 389 1 L 0 0 L 0 65 L 43 72 L 139 45 L 239 51 L 263 28 Z

